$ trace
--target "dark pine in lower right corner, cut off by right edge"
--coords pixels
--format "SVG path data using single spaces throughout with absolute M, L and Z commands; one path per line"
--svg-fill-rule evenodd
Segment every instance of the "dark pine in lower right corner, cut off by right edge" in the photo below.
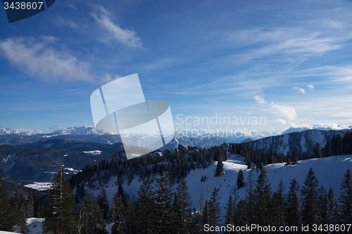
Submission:
M 352 178 L 350 169 L 347 169 L 341 183 L 339 201 L 341 202 L 342 223 L 352 223 Z

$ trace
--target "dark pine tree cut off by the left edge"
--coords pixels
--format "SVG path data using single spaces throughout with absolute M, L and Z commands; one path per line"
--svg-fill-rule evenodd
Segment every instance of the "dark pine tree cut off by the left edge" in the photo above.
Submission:
M 0 176 L 0 230 L 11 231 L 14 225 L 13 212 L 10 201 L 5 193 L 5 189 L 1 185 Z

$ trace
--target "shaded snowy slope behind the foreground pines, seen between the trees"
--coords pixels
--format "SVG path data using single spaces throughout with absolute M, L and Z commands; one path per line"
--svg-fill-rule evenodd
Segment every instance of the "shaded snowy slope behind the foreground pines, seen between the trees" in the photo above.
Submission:
M 284 181 L 286 192 L 289 189 L 289 183 L 292 178 L 296 178 L 300 186 L 303 186 L 304 180 L 308 174 L 310 167 L 313 168 L 315 175 L 318 178 L 319 186 L 324 186 L 325 190 L 329 190 L 330 187 L 334 190 L 334 195 L 339 197 L 339 190 L 342 179 L 347 169 L 352 170 L 352 155 L 341 155 L 325 157 L 321 159 L 310 159 L 299 161 L 296 165 L 286 165 L 285 163 L 270 164 L 265 166 L 267 171 L 269 183 L 273 191 L 277 189 L 280 179 Z M 187 185 L 189 186 L 189 193 L 191 194 L 193 206 L 199 209 L 200 190 L 201 190 L 201 177 L 206 176 L 206 181 L 203 182 L 203 194 L 206 199 L 208 190 L 209 195 L 212 193 L 214 187 L 219 188 L 218 194 L 220 195 L 220 203 L 222 207 L 225 207 L 225 203 L 232 195 L 234 186 L 237 186 L 237 174 L 240 169 L 243 169 L 245 181 L 247 183 L 247 176 L 249 169 L 244 163 L 243 158 L 238 155 L 231 155 L 229 159 L 224 163 L 224 171 L 220 177 L 214 177 L 217 162 L 206 169 L 196 169 L 191 171 L 185 178 Z M 255 181 L 260 174 L 260 171 L 253 170 L 253 180 Z M 106 185 L 106 193 L 108 199 L 111 200 L 113 195 L 117 192 L 118 186 L 115 185 L 116 178 L 112 178 L 111 181 Z M 127 181 L 122 184 L 125 192 L 132 197 L 138 197 L 137 191 L 141 186 L 142 181 L 139 181 L 139 177 L 134 178 L 130 186 L 127 186 Z M 153 188 L 156 188 L 156 181 L 153 182 Z M 175 185 L 173 188 L 177 188 Z M 86 188 L 87 189 L 87 188 Z M 87 190 L 86 190 L 87 191 Z M 100 190 L 91 191 L 96 197 L 99 195 Z M 239 189 L 239 196 L 244 198 L 246 195 L 246 188 Z M 225 209 L 222 209 L 222 214 L 225 214 Z

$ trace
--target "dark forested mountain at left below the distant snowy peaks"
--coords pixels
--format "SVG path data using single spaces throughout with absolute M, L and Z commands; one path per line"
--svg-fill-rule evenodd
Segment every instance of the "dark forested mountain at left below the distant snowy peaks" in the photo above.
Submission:
M 0 145 L 0 174 L 8 181 L 51 181 L 61 164 L 70 177 L 87 164 L 98 163 L 122 149 L 122 143 L 104 145 L 63 139 Z

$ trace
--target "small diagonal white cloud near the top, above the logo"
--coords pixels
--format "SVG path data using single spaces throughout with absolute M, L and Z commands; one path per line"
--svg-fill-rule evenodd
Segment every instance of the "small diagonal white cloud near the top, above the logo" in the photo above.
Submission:
M 110 13 L 106 8 L 103 8 L 103 6 L 94 6 L 94 8 L 96 12 L 91 13 L 94 20 L 103 27 L 103 29 L 110 32 L 114 39 L 132 48 L 142 47 L 141 39 L 136 36 L 134 30 L 124 30 L 119 25 L 115 25 L 108 16 Z

